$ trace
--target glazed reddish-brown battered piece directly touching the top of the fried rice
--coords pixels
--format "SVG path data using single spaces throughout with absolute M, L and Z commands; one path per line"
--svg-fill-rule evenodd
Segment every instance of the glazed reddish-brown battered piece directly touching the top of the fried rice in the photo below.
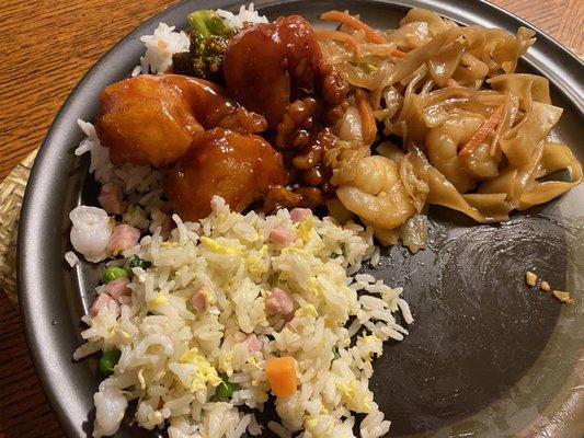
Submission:
M 164 193 L 183 220 L 197 220 L 210 214 L 214 195 L 241 211 L 286 180 L 282 155 L 262 137 L 216 128 L 169 171 Z

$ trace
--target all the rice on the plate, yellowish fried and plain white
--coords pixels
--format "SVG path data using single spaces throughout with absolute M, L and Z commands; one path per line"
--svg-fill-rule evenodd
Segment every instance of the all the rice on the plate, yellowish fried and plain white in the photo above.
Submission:
M 253 4 L 239 14 L 219 14 L 233 27 L 267 22 Z M 187 35 L 164 23 L 141 39 L 146 54 L 133 74 L 163 72 L 173 53 L 188 49 Z M 174 215 L 178 227 L 164 239 L 161 172 L 114 166 L 93 126 L 82 120 L 79 126 L 87 138 L 76 154 L 90 152 L 95 180 L 123 188 L 129 208 L 118 222 L 145 235 L 124 258 L 108 264 L 123 265 L 135 254 L 152 263 L 146 270 L 133 269 L 128 302 L 104 306 L 96 316 L 82 319 L 89 325 L 81 334 L 87 343 L 75 351 L 76 359 L 122 351 L 114 374 L 94 395 L 93 437 L 113 435 L 133 402 L 139 426 L 167 428 L 171 438 L 259 436 L 266 426 L 280 437 L 302 430 L 304 438 L 350 438 L 355 413 L 366 414 L 357 436 L 385 435 L 390 423 L 368 388 L 371 361 L 382 354 L 385 341 L 408 334 L 393 314 L 401 312 L 408 324 L 413 318 L 401 288 L 357 274 L 364 263 L 379 262 L 371 230 L 313 216 L 293 223 L 285 209 L 267 217 L 236 214 L 216 197 L 213 212 L 199 222 L 182 222 Z M 274 245 L 268 237 L 276 227 L 300 239 L 289 247 Z M 78 263 L 75 253 L 67 253 L 67 261 Z M 197 311 L 191 299 L 203 286 L 211 291 L 210 306 Z M 294 300 L 289 321 L 266 312 L 266 298 L 276 286 Z M 104 291 L 104 286 L 96 288 Z M 261 342 L 256 353 L 247 346 L 252 333 Z M 261 425 L 243 406 L 263 411 L 270 356 L 294 357 L 299 384 L 293 396 L 276 400 L 279 418 Z M 219 372 L 239 384 L 229 401 L 214 397 Z

